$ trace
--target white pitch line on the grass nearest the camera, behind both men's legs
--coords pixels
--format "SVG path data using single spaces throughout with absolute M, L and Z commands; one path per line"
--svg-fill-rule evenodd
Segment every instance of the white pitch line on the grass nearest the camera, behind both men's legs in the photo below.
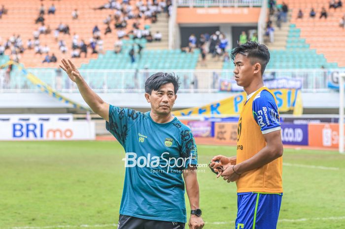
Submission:
M 315 220 L 345 220 L 345 216 L 339 217 L 318 217 L 318 218 L 302 218 L 302 219 L 280 219 L 278 222 L 304 222 L 304 221 L 315 221 Z M 205 224 L 212 224 L 212 225 L 222 225 L 222 224 L 234 224 L 235 221 L 227 221 L 227 222 L 205 222 Z M 104 228 L 104 227 L 116 227 L 116 224 L 101 224 L 101 225 L 57 225 L 57 226 L 47 226 L 47 227 L 13 227 L 9 229 L 54 229 L 54 228 Z

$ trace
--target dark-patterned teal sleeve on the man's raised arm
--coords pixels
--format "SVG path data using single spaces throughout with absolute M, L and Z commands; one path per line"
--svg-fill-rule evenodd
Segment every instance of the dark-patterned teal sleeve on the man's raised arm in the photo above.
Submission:
M 129 129 L 142 113 L 129 108 L 109 106 L 109 122 L 105 123 L 109 131 L 125 147 Z

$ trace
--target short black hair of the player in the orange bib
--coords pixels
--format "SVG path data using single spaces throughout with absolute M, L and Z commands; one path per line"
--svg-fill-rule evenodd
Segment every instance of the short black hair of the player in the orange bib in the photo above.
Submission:
M 265 68 L 270 61 L 270 52 L 266 45 L 259 44 L 255 41 L 247 41 L 245 44 L 237 46 L 231 52 L 231 60 L 235 61 L 235 57 L 239 53 L 249 58 L 252 65 L 257 62 L 260 63 L 261 75 L 264 74 Z

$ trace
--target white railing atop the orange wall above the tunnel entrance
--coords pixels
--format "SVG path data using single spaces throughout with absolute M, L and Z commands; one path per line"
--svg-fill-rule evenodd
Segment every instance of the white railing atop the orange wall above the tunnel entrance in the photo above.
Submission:
M 177 0 L 178 7 L 261 7 L 263 0 Z

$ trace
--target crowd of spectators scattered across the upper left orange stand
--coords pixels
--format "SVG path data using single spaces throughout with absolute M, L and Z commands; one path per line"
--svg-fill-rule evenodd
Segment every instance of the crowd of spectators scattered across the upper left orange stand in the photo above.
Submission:
M 91 38 L 86 42 L 85 38 L 79 38 L 76 33 L 73 33 L 72 46 L 70 47 L 70 57 L 79 58 L 83 56 L 87 57 L 88 53 L 97 54 L 104 53 L 104 40 L 101 38 L 103 35 L 108 33 L 113 33 L 113 30 L 116 30 L 117 41 L 114 45 L 114 52 L 120 53 L 122 51 L 122 39 L 123 38 L 133 38 L 140 39 L 146 38 L 148 42 L 152 41 L 161 41 L 162 33 L 157 31 L 154 34 L 151 34 L 149 27 L 145 26 L 144 29 L 140 29 L 140 19 L 150 20 L 152 23 L 157 21 L 157 15 L 161 12 L 167 13 L 171 10 L 172 1 L 171 0 L 148 0 L 144 2 L 139 0 L 135 6 L 129 4 L 129 0 L 123 0 L 121 3 L 116 0 L 107 0 L 106 3 L 99 7 L 95 7 L 94 10 L 103 10 L 103 9 L 112 9 L 113 14 L 108 14 L 103 23 L 106 24 L 106 29 L 104 32 L 101 32 L 99 27 L 95 25 L 92 30 Z M 50 47 L 45 44 L 41 45 L 40 36 L 41 34 L 50 34 L 52 29 L 49 25 L 46 25 L 45 15 L 52 14 L 55 15 L 56 11 L 59 10 L 54 3 L 52 3 L 48 9 L 46 6 L 41 3 L 38 9 L 38 16 L 35 19 L 35 24 L 38 24 L 37 29 L 33 32 L 33 37 L 28 39 L 26 43 L 26 48 L 24 48 L 23 41 L 20 38 L 20 35 L 15 35 L 9 37 L 4 44 L 0 40 L 0 55 L 5 53 L 5 50 L 11 50 L 11 59 L 16 62 L 20 61 L 20 54 L 24 53 L 25 50 L 33 49 L 35 54 L 44 55 L 42 63 L 50 63 L 56 61 L 56 56 L 54 54 L 50 55 Z M 2 5 L 0 9 L 0 18 L 3 14 L 7 13 L 7 9 Z M 74 9 L 71 12 L 71 17 L 73 20 L 78 20 L 79 12 L 78 9 Z M 134 19 L 132 25 L 128 25 L 128 20 Z M 101 22 L 100 22 L 101 23 Z M 130 26 L 130 29 L 128 27 Z M 127 32 L 129 31 L 129 32 Z M 69 47 L 66 45 L 66 41 L 63 38 L 60 38 L 60 34 L 70 35 L 70 28 L 68 24 L 61 22 L 57 28 L 53 29 L 53 35 L 56 42 L 56 45 L 59 47 L 61 53 L 69 52 Z M 50 42 L 50 44 L 53 44 Z M 142 46 L 138 50 L 142 50 Z M 139 53 L 140 53 L 139 52 Z M 135 55 L 133 55 L 134 57 Z M 140 56 L 140 55 L 139 55 Z M 135 59 L 135 58 L 134 58 Z M 132 60 L 132 57 L 131 57 Z M 134 61 L 133 61 L 134 62 Z

